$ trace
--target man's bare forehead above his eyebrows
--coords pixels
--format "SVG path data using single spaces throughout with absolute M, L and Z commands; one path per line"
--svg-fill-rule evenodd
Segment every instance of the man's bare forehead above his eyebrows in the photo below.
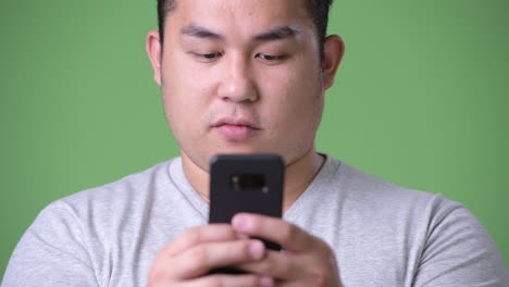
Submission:
M 166 33 L 190 24 L 238 36 L 274 26 L 313 26 L 303 0 L 176 0 L 166 15 Z

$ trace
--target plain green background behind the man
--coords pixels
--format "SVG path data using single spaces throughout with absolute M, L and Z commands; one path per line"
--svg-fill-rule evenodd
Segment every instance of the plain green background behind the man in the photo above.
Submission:
M 464 203 L 509 261 L 509 2 L 336 0 L 319 150 Z M 37 213 L 177 155 L 145 54 L 156 0 L 0 1 L 0 274 Z

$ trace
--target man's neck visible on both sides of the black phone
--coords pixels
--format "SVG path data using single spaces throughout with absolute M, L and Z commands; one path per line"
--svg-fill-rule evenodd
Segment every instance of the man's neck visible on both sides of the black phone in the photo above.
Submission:
M 182 162 L 184 173 L 193 188 L 204 201 L 209 202 L 209 172 L 196 165 L 185 152 L 182 152 Z M 283 190 L 283 212 L 286 212 L 306 191 L 323 162 L 324 158 L 318 154 L 313 147 L 303 157 L 287 163 Z

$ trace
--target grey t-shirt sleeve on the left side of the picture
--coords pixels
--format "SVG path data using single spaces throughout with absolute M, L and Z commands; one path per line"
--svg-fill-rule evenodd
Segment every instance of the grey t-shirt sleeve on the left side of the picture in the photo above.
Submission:
M 17 244 L 2 287 L 98 286 L 86 238 L 71 208 L 55 202 L 42 210 Z

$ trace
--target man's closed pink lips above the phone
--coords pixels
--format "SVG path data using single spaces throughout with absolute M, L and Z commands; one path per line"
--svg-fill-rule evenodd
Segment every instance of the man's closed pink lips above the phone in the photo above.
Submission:
M 252 121 L 245 118 L 222 118 L 212 127 L 228 141 L 245 141 L 261 130 Z

